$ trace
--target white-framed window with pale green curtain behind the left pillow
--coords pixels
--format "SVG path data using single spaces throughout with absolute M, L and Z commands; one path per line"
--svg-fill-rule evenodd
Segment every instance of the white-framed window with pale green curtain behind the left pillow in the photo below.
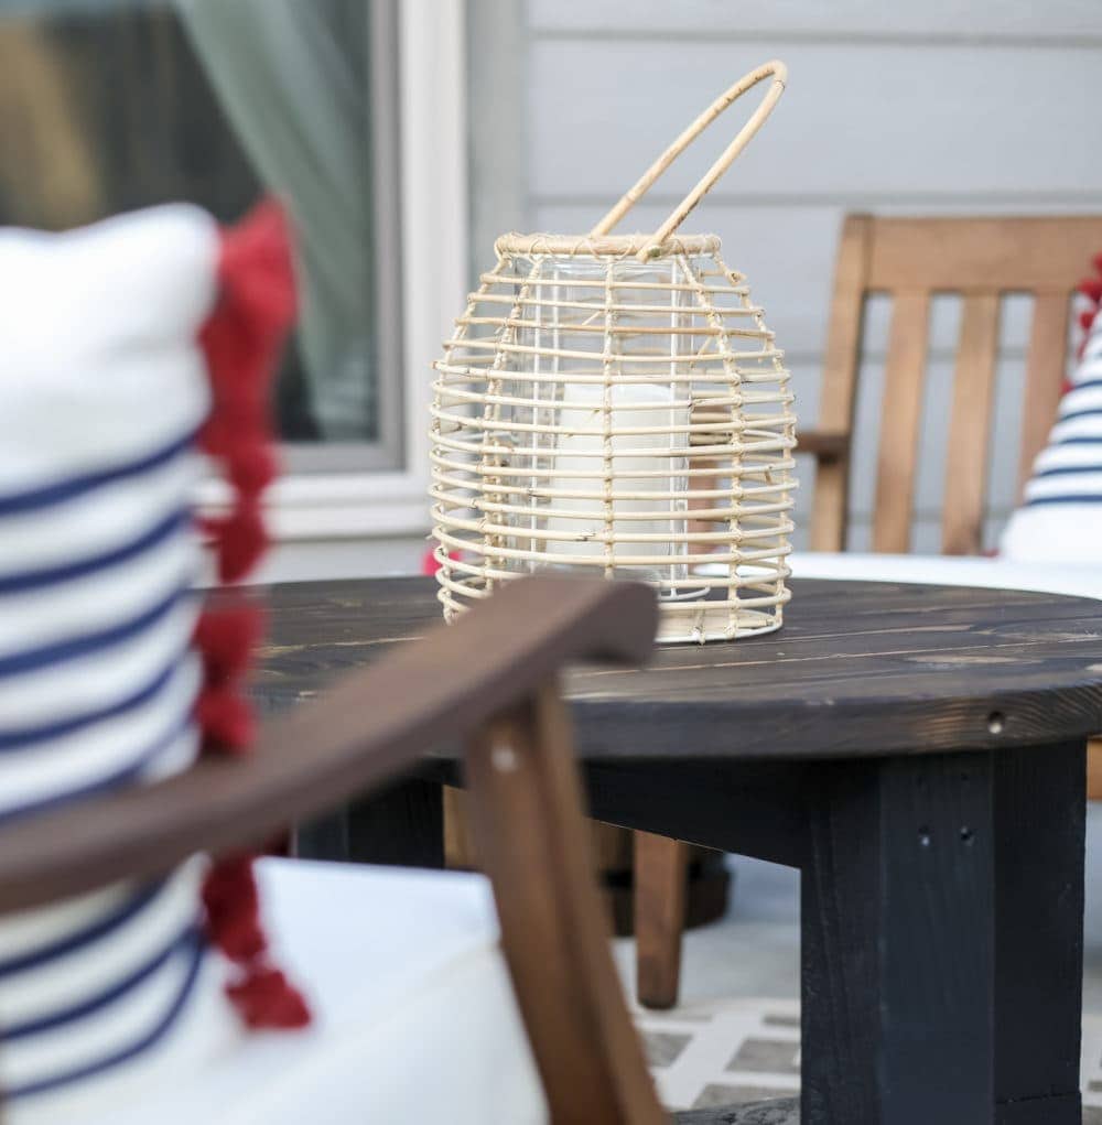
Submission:
M 285 536 L 428 525 L 428 363 L 465 281 L 462 56 L 462 6 L 436 0 L 0 2 L 0 224 L 289 205 Z

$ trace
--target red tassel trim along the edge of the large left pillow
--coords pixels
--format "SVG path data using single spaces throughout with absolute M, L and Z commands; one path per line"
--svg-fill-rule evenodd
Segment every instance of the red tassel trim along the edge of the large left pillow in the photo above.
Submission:
M 224 234 L 218 282 L 217 304 L 199 335 L 213 399 L 199 444 L 221 464 L 233 492 L 227 514 L 204 524 L 218 577 L 232 584 L 252 570 L 268 546 L 261 494 L 277 471 L 268 390 L 295 313 L 290 246 L 277 204 L 261 204 Z M 196 719 L 205 752 L 245 753 L 252 741 L 253 717 L 242 684 L 260 630 L 259 611 L 245 604 L 208 610 L 199 619 L 195 644 L 203 655 L 204 684 Z M 226 994 L 245 1025 L 308 1024 L 302 994 L 268 960 L 252 856 L 215 863 L 203 901 L 212 944 L 236 968 Z

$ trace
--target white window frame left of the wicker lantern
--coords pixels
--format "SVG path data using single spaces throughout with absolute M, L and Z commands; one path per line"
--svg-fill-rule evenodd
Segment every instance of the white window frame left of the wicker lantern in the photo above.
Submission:
M 376 166 L 388 160 L 396 172 L 378 178 L 378 315 L 401 325 L 389 348 L 380 334 L 380 441 L 284 446 L 285 474 L 266 494 L 277 541 L 393 538 L 430 525 L 431 364 L 467 288 L 466 0 L 378 8 L 391 22 L 373 11 L 371 61 L 389 57 L 373 65 L 380 89 L 373 75 L 370 94 L 396 108 L 373 133 Z M 223 482 L 204 482 L 205 511 L 227 501 Z

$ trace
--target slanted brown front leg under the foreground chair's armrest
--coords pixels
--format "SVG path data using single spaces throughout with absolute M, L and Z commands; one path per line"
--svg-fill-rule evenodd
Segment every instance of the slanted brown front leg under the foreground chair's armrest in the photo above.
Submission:
M 554 1125 L 664 1125 L 609 947 L 554 683 L 467 744 L 468 804 Z

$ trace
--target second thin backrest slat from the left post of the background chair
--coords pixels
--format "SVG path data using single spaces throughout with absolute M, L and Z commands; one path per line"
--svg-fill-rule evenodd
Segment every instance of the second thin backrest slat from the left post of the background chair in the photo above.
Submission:
M 998 352 L 998 294 L 965 297 L 953 376 L 941 549 L 946 555 L 983 550 L 987 495 L 987 438 Z

